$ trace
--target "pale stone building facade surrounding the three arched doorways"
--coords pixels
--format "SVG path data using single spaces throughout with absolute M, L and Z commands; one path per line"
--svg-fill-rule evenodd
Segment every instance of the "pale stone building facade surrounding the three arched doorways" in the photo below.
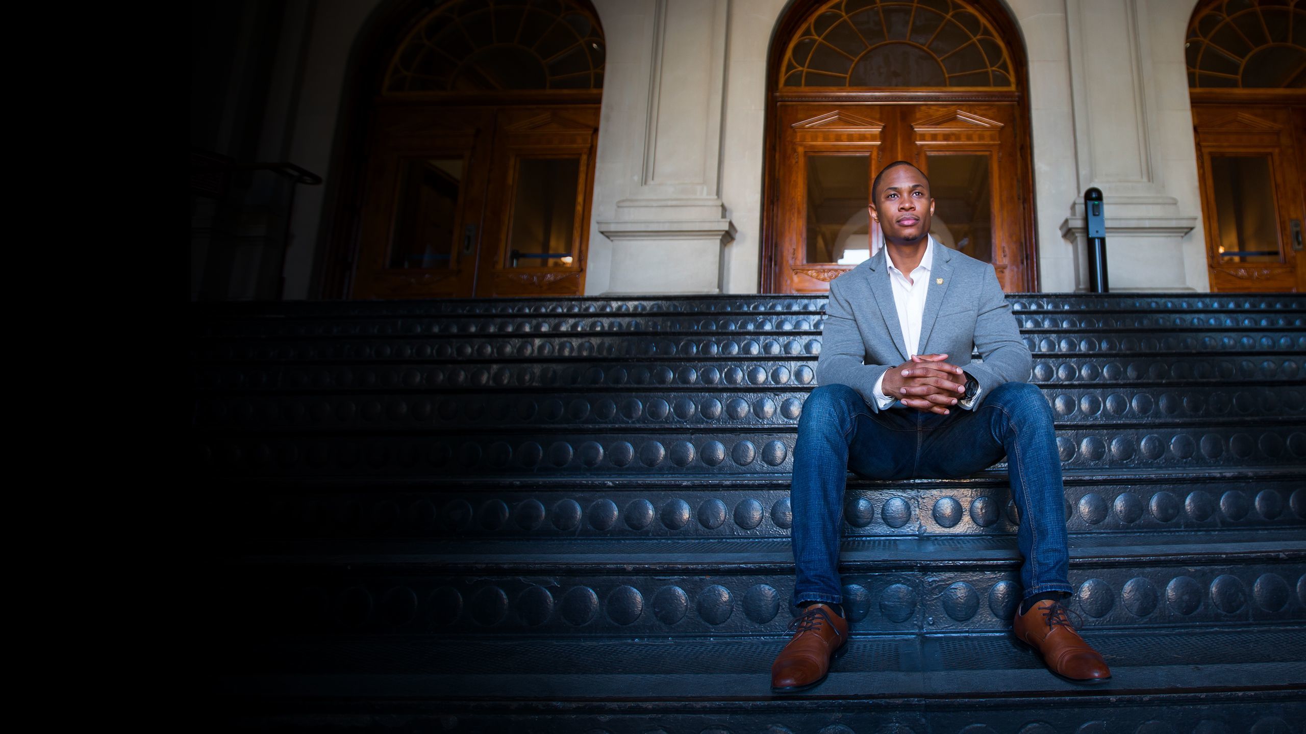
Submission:
M 283 16 L 265 33 L 263 42 L 272 42 L 274 51 L 263 67 L 268 91 L 257 157 L 291 161 L 326 182 L 296 192 L 283 298 L 347 295 L 340 278 L 351 276 L 337 276 L 332 285 L 329 259 L 332 242 L 340 247 L 349 239 L 338 223 L 340 208 L 349 205 L 340 179 L 364 175 L 357 162 L 366 155 L 357 150 L 355 168 L 349 168 L 350 146 L 367 140 L 358 131 L 372 104 L 359 94 L 366 89 L 358 80 L 366 67 L 362 56 L 376 54 L 379 26 L 396 22 L 401 10 L 413 14 L 436 5 L 287 0 Z M 795 13 L 825 5 L 797 0 L 586 5 L 601 25 L 606 59 L 592 199 L 581 232 L 586 249 L 576 264 L 584 270 L 582 295 L 746 294 L 763 287 L 765 259 L 781 247 L 767 242 L 768 217 L 781 206 L 772 200 L 768 208 L 767 196 L 788 196 L 765 183 L 773 170 L 768 155 L 777 155 L 780 145 L 772 101 L 781 89 L 773 71 L 777 44 L 790 43 L 793 33 L 786 29 L 802 25 Z M 1032 263 L 1027 286 L 1008 290 L 1088 287 L 1083 196 L 1089 187 L 1105 196 L 1113 290 L 1212 290 L 1213 249 L 1203 219 L 1203 163 L 1190 97 L 1194 61 L 1186 57 L 1190 22 L 1202 9 L 1198 0 L 953 0 L 952 5 L 1000 16 L 994 27 L 1010 29 L 1000 40 L 1011 48 L 1013 73 L 1023 77 L 1013 89 L 1030 197 L 1021 236 L 1033 239 Z M 1286 17 L 1306 17 L 1299 4 L 1282 5 Z M 1302 38 L 1286 46 L 1306 43 L 1306 30 L 1298 34 Z M 1280 63 L 1293 63 L 1292 48 L 1284 54 L 1288 60 Z M 229 94 L 239 95 L 239 74 L 230 78 L 235 81 Z M 1301 73 L 1296 81 L 1276 84 L 1289 89 L 1256 99 L 1264 102 L 1268 94 L 1275 104 L 1301 104 Z M 1282 153 L 1289 161 L 1294 154 Z M 1275 193 L 1286 222 L 1301 208 L 1302 168 L 1276 161 L 1285 171 L 1279 175 L 1288 176 Z M 1008 188 L 1004 196 L 1016 195 L 1019 189 Z M 1280 260 L 1290 265 L 1293 256 L 1288 239 Z M 1256 286 L 1255 273 L 1247 278 L 1245 290 Z

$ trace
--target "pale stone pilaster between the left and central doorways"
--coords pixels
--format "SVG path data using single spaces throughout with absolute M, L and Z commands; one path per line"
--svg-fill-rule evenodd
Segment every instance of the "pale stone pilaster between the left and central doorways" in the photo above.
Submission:
M 609 60 L 586 293 L 721 293 L 730 0 L 598 5 L 610 50 L 646 52 Z

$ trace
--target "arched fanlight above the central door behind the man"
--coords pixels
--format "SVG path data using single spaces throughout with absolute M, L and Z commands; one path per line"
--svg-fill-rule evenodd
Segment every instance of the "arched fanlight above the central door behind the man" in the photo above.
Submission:
M 786 88 L 1013 89 L 1006 44 L 959 0 L 833 0 L 794 35 Z

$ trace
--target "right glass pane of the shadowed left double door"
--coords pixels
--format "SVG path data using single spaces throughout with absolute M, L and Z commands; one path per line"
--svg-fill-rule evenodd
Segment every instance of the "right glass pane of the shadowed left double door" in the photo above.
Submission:
M 580 158 L 521 158 L 508 238 L 509 268 L 569 268 Z

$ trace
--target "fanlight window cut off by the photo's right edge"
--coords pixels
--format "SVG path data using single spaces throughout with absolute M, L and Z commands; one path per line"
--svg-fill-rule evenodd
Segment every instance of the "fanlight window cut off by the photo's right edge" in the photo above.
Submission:
M 1192 13 L 1191 88 L 1306 86 L 1306 8 L 1298 0 L 1218 0 Z

